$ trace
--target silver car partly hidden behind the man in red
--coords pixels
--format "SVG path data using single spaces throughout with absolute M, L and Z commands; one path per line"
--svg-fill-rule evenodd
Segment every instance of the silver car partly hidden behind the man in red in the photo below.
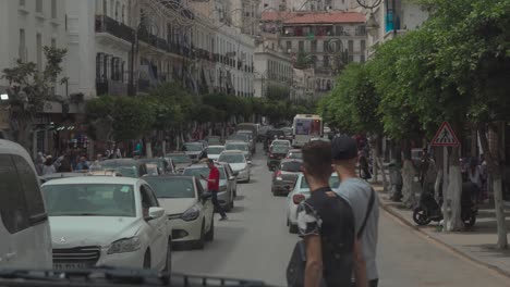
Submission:
M 235 183 L 235 176 L 229 171 L 226 171 L 226 167 L 221 163 L 216 163 L 220 172 L 220 183 L 218 190 L 218 202 L 223 208 L 223 210 L 230 211 L 234 205 L 234 198 L 238 188 Z M 231 172 L 231 171 L 230 171 Z M 201 175 L 208 177 L 209 167 L 206 164 L 193 164 L 192 166 L 184 170 L 183 175 L 195 176 L 196 178 L 202 178 Z M 204 190 L 207 190 L 207 182 L 201 179 Z

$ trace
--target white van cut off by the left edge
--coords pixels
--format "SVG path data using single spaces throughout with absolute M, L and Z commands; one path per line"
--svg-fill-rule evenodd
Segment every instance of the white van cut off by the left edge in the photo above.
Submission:
M 0 269 L 52 269 L 51 235 L 26 150 L 0 139 Z

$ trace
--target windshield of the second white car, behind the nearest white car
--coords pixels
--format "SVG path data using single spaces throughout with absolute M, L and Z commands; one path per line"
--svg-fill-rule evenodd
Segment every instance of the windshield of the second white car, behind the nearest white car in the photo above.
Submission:
M 194 198 L 195 187 L 192 178 L 184 177 L 147 177 L 145 180 L 153 187 L 158 198 Z

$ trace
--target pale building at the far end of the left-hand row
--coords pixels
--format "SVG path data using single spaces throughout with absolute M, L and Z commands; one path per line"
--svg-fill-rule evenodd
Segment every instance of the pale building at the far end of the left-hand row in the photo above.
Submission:
M 255 50 L 255 97 L 268 97 L 274 90 L 291 95 L 293 67 L 289 55 L 260 45 Z

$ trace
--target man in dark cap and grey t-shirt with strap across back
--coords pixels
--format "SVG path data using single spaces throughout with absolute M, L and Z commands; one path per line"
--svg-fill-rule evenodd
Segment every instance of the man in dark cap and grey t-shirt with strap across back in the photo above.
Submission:
M 354 211 L 356 236 L 361 239 L 368 286 L 376 287 L 379 280 L 376 265 L 378 199 L 372 186 L 356 176 L 356 141 L 353 138 L 340 136 L 332 140 L 332 163 L 341 183 L 336 192 L 345 198 Z M 357 279 L 357 275 L 355 277 Z

